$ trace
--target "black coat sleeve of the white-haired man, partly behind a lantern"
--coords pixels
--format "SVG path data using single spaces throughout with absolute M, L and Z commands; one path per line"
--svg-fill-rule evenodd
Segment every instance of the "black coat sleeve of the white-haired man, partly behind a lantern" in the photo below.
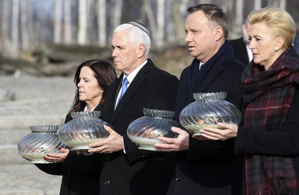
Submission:
M 179 80 L 176 76 L 171 75 L 164 77 L 164 79 L 158 82 L 153 92 L 150 108 L 174 111 L 178 85 Z M 130 163 L 140 160 L 141 158 L 146 158 L 147 156 L 161 155 L 161 152 L 138 149 L 138 146 L 132 143 L 127 135 L 122 136 L 126 155 Z

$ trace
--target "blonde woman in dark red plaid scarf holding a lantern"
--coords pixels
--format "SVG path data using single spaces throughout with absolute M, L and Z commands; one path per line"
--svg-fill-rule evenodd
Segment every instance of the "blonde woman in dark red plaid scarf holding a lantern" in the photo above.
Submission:
M 296 29 L 284 10 L 266 7 L 248 15 L 253 61 L 242 74 L 244 126 L 204 128 L 210 140 L 235 139 L 245 155 L 243 194 L 299 194 L 299 55 Z M 246 178 L 246 179 L 245 179 Z

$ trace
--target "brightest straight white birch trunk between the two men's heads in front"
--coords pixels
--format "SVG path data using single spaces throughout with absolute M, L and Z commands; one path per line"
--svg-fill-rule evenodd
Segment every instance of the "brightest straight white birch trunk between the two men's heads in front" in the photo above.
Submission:
M 164 46 L 164 25 L 165 25 L 165 0 L 157 2 L 157 37 L 155 38 L 156 46 L 161 48 Z

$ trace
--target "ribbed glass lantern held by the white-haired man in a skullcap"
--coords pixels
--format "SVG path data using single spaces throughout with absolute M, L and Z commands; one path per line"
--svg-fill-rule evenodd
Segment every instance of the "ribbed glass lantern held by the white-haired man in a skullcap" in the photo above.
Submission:
M 110 124 L 99 119 L 100 111 L 72 112 L 73 120 L 61 127 L 59 139 L 74 151 L 92 149 L 89 144 L 101 141 L 109 136 L 104 125 Z M 112 128 L 113 129 L 113 128 Z

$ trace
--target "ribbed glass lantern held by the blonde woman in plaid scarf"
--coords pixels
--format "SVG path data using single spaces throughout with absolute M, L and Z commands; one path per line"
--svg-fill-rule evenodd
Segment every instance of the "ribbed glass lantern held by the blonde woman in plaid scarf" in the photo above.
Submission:
M 212 127 L 221 129 L 218 123 L 236 124 L 242 120 L 239 109 L 225 101 L 226 92 L 193 93 L 196 100 L 187 105 L 180 114 L 180 123 L 186 129 L 201 135 L 199 129 Z

